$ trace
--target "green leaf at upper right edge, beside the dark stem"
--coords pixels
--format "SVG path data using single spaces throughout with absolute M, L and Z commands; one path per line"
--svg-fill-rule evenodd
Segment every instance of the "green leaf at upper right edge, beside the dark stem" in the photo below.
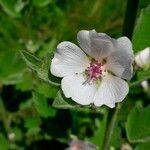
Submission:
M 150 6 L 142 9 L 132 41 L 136 52 L 150 46 Z

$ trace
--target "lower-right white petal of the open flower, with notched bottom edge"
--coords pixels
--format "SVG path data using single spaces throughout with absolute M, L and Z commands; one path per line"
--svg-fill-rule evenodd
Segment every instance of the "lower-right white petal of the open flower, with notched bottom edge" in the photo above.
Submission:
M 127 82 L 113 75 L 107 75 L 103 78 L 95 94 L 94 104 L 96 106 L 107 105 L 113 108 L 116 102 L 121 102 L 125 98 L 128 91 Z

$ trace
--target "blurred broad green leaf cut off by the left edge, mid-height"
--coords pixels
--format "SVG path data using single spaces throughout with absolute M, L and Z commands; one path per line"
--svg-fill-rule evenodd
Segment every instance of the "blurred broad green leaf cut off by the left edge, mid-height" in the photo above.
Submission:
M 0 81 L 3 84 L 21 82 L 25 64 L 19 56 L 14 51 L 0 53 Z

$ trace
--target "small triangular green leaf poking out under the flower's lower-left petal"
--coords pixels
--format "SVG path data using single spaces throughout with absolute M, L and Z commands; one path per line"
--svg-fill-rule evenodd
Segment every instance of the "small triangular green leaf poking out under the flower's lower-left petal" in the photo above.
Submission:
M 79 105 L 77 103 L 72 101 L 70 98 L 65 98 L 62 95 L 61 91 L 58 91 L 52 106 L 56 108 L 62 108 L 62 109 L 77 108 L 77 107 L 79 108 Z

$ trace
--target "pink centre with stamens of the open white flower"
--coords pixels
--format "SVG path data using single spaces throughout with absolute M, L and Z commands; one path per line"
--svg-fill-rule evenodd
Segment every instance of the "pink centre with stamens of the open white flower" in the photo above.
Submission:
M 101 80 L 107 74 L 107 70 L 104 64 L 94 60 L 90 63 L 90 66 L 87 67 L 87 69 L 85 70 L 85 74 L 87 80 L 84 82 L 84 84 L 93 83 L 97 80 Z

